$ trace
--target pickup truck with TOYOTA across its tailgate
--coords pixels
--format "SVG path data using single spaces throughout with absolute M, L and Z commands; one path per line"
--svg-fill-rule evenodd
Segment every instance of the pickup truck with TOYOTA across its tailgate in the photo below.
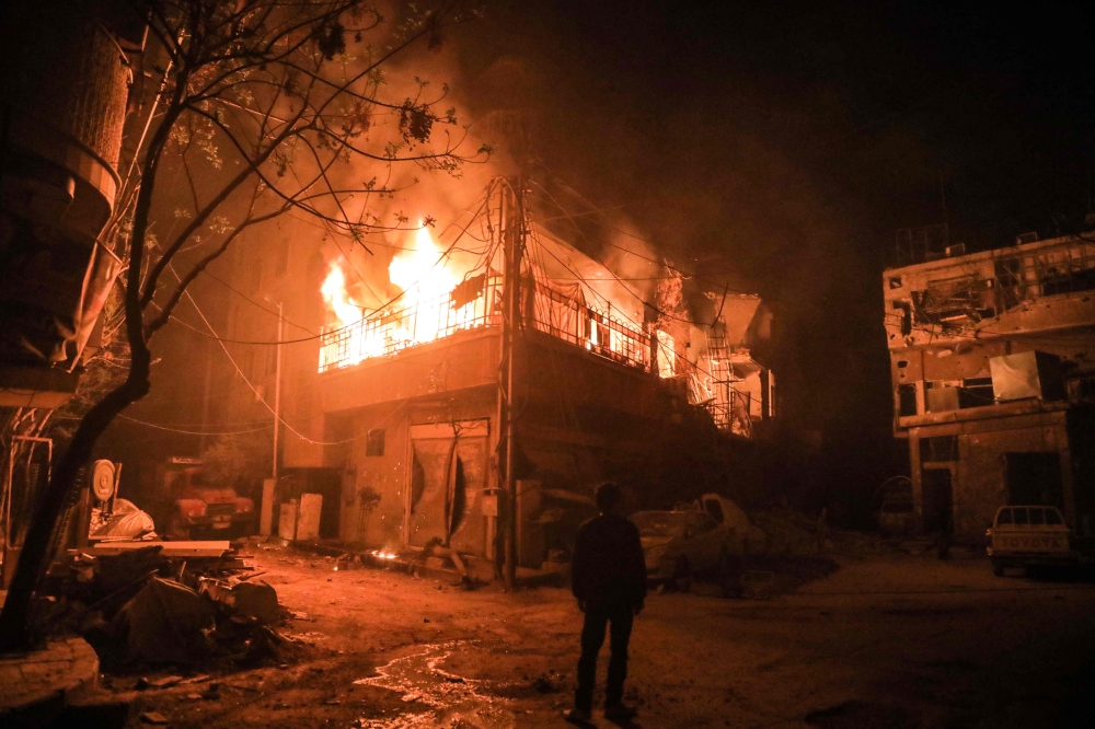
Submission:
M 984 546 L 996 577 L 1007 567 L 1073 565 L 1079 559 L 1072 531 L 1056 507 L 1001 507 L 984 533 Z

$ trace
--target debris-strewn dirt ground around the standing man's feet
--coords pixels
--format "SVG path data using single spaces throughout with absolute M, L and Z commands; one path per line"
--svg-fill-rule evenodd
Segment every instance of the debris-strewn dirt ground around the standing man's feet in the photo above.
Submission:
M 307 613 L 284 632 L 313 647 L 292 664 L 148 688 L 136 714 L 204 729 L 565 726 L 581 624 L 568 591 L 469 592 L 255 553 L 283 604 Z M 1095 587 L 994 578 L 983 558 L 837 560 L 770 600 L 652 594 L 632 640 L 632 726 L 1095 726 Z M 129 692 L 137 678 L 107 683 Z

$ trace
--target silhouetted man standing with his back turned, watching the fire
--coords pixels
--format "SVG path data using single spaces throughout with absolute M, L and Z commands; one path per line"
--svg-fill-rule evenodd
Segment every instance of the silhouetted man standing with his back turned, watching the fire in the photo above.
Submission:
M 627 676 L 632 621 L 643 610 L 646 599 L 646 563 L 638 529 L 612 513 L 620 500 L 620 487 L 611 482 L 600 484 L 593 499 L 601 513 L 578 529 L 570 568 L 574 597 L 578 599 L 578 609 L 586 614 L 578 687 L 574 692 L 574 708 L 566 715 L 567 720 L 576 724 L 590 720 L 597 653 L 604 643 L 607 626 L 611 626 L 612 655 L 604 686 L 604 717 L 611 720 L 635 716 L 635 709 L 623 703 L 623 681 Z

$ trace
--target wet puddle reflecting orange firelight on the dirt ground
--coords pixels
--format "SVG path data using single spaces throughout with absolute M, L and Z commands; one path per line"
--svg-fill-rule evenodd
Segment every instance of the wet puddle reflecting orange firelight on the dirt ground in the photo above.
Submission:
M 480 693 L 486 682 L 441 670 L 438 666 L 465 640 L 431 646 L 396 658 L 377 669 L 376 676 L 354 683 L 377 686 L 402 694 L 407 710 L 399 716 L 360 719 L 362 729 L 514 729 L 514 714 L 504 707 L 505 699 Z M 426 709 L 426 710 L 422 710 Z

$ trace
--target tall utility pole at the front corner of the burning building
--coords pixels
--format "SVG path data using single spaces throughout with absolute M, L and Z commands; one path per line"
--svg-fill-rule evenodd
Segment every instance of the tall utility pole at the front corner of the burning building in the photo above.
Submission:
M 517 520 L 520 513 L 517 507 L 517 479 L 514 477 L 514 437 L 517 408 L 514 406 L 514 359 L 517 349 L 517 329 L 521 316 L 521 250 L 525 247 L 525 190 L 523 180 L 518 176 L 514 189 L 515 205 L 507 230 L 504 234 L 505 255 L 505 314 L 502 319 L 503 355 L 506 367 L 506 589 L 512 590 L 517 585 Z M 505 193 L 503 193 L 505 195 Z

